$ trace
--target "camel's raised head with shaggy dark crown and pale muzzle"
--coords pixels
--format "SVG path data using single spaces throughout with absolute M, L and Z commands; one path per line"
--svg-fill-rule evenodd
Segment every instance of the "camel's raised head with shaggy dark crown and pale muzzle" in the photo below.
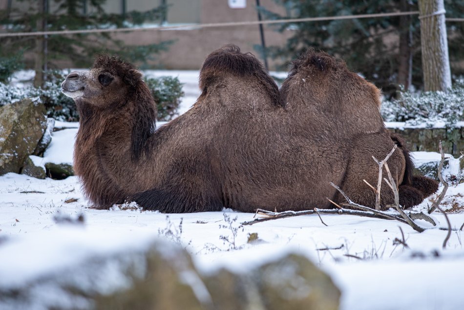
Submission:
M 90 71 L 73 71 L 61 84 L 63 94 L 92 106 L 105 108 L 126 99 L 140 84 L 142 74 L 115 56 L 98 56 Z

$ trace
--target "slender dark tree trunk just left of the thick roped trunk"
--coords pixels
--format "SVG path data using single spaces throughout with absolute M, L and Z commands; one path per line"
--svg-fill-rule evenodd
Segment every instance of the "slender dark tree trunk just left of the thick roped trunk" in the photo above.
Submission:
M 408 0 L 401 0 L 400 11 L 410 10 Z M 412 31 L 411 16 L 400 17 L 400 63 L 398 68 L 398 84 L 408 90 L 412 83 Z

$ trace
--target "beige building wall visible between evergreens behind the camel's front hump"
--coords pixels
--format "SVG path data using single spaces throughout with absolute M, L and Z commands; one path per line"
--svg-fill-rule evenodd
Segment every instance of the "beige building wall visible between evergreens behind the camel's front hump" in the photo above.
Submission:
M 172 3 L 169 9 L 175 12 L 182 7 L 180 0 L 168 1 Z M 247 0 L 247 7 L 243 9 L 232 9 L 227 0 L 198 0 L 200 3 L 201 23 L 216 22 L 245 22 L 257 21 L 255 1 Z M 177 7 L 179 5 L 179 7 Z M 273 0 L 261 0 L 261 5 L 266 8 L 284 14 L 282 7 L 277 6 Z M 184 13 L 187 13 L 184 11 Z M 174 14 L 174 13 L 173 13 Z M 169 15 L 169 13 L 168 13 Z M 168 21 L 172 23 L 172 20 Z M 282 45 L 290 36 L 288 32 L 278 33 L 270 26 L 264 26 L 266 45 Z M 203 28 L 192 30 L 165 30 L 165 31 L 143 31 L 136 33 L 120 33 L 115 35 L 126 44 L 152 44 L 167 40 L 175 40 L 170 45 L 168 52 L 158 56 L 158 62 L 152 65 L 160 65 L 167 69 L 198 69 L 204 59 L 213 50 L 225 45 L 236 44 L 243 52 L 252 52 L 257 57 L 253 48 L 255 44 L 261 44 L 258 25 Z M 271 69 L 274 62 L 269 60 Z

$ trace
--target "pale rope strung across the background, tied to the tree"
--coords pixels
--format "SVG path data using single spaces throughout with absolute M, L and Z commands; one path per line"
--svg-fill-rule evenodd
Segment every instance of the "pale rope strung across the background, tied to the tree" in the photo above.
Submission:
M 434 15 L 444 14 L 443 12 L 435 12 L 427 16 L 419 18 L 427 18 Z M 2 37 L 31 37 L 31 36 L 44 36 L 44 35 L 66 35 L 66 34 L 91 34 L 91 33 L 116 33 L 116 32 L 138 32 L 138 31 L 165 31 L 165 30 L 191 30 L 191 29 L 204 29 L 204 28 L 218 28 L 218 27 L 233 27 L 233 26 L 247 26 L 247 25 L 270 25 L 279 23 L 296 23 L 296 22 L 321 22 L 321 21 L 337 21 L 337 20 L 350 20 L 350 19 L 364 19 L 364 18 L 380 18 L 380 17 L 395 17 L 404 15 L 419 15 L 419 11 L 409 12 L 391 12 L 391 13 L 377 13 L 377 14 L 358 14 L 358 15 L 341 15 L 329 17 L 307 17 L 296 19 L 280 19 L 280 20 L 267 20 L 267 21 L 249 21 L 249 22 L 216 22 L 216 23 L 202 23 L 191 25 L 176 25 L 176 26 L 153 26 L 153 27 L 129 27 L 129 28 L 98 28 L 98 29 L 80 29 L 80 30 L 54 30 L 54 31 L 34 31 L 34 32 L 6 32 L 0 33 Z M 464 22 L 464 18 L 446 18 L 446 22 Z

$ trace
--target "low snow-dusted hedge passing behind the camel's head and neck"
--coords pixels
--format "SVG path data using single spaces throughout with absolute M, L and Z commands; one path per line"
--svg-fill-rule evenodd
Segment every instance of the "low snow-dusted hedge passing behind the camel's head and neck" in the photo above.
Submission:
M 61 82 L 66 74 L 62 71 L 47 72 L 48 80 L 43 88 L 16 87 L 0 83 L 0 106 L 28 97 L 40 97 L 47 110 L 47 116 L 61 121 L 78 121 L 79 113 L 74 101 L 63 95 Z M 177 114 L 180 99 L 184 95 L 178 78 L 160 77 L 147 79 L 148 88 L 158 108 L 157 120 L 168 121 Z

